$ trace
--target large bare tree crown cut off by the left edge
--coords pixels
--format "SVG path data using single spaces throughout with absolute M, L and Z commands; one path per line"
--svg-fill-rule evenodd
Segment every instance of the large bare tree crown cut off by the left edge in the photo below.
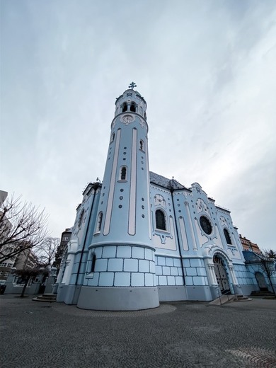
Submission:
M 21 197 L 6 199 L 0 209 L 0 263 L 18 253 L 39 246 L 47 237 L 47 215 L 44 209 Z

